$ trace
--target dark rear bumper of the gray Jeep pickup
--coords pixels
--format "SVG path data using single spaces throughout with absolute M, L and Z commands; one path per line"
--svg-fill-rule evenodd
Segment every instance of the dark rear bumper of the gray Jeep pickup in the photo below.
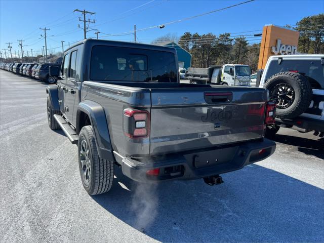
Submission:
M 192 180 L 242 169 L 269 157 L 275 146 L 271 140 L 260 139 L 211 149 L 148 157 L 145 162 L 143 159 L 139 161 L 119 157 L 121 161 L 118 163 L 123 174 L 135 181 Z M 146 175 L 147 170 L 156 168 L 159 168 L 158 176 Z

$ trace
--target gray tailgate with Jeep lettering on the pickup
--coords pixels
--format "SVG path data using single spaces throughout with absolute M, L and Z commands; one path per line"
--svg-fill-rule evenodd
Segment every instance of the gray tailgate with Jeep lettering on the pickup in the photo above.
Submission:
M 172 153 L 263 136 L 265 89 L 151 89 L 150 153 Z

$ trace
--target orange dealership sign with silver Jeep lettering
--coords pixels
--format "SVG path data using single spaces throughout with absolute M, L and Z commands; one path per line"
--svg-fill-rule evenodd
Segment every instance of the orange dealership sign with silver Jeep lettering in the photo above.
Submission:
M 270 56 L 297 54 L 298 38 L 298 31 L 275 25 L 264 26 L 258 69 L 265 67 Z

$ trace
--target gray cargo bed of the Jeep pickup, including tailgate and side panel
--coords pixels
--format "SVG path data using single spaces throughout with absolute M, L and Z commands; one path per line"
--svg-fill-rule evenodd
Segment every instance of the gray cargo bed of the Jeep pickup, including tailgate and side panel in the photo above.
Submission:
M 83 85 L 85 99 L 103 105 L 113 149 L 123 156 L 175 153 L 263 137 L 265 89 L 136 82 Z M 150 113 L 149 137 L 124 136 L 125 108 Z

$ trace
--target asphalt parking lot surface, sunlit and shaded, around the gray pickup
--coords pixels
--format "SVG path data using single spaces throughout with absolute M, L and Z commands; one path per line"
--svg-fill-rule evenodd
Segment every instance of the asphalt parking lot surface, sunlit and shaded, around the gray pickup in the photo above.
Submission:
M 281 129 L 268 159 L 203 180 L 89 196 L 77 147 L 47 124 L 46 84 L 0 71 L 1 242 L 324 241 L 324 139 Z

